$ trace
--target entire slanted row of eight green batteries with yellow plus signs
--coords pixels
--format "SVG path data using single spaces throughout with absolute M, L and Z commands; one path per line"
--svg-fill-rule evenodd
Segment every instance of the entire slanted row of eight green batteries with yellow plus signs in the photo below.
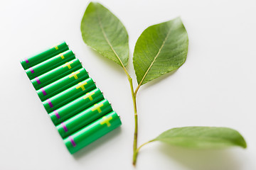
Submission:
M 71 154 L 122 124 L 65 42 L 21 65 Z

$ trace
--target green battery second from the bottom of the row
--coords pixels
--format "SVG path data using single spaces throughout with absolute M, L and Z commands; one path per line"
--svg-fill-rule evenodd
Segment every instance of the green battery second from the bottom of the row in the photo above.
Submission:
M 110 113 L 112 111 L 112 107 L 107 99 L 104 99 L 95 105 L 87 108 L 85 111 L 74 115 L 72 118 L 65 120 L 63 123 L 60 123 L 56 126 L 60 136 L 65 138 L 68 135 L 71 135 L 73 132 L 80 130 L 85 127 L 92 121 L 101 118 L 103 115 Z

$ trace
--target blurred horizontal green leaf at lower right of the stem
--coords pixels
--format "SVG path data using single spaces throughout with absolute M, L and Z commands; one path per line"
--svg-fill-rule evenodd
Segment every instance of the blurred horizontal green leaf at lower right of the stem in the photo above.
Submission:
M 163 132 L 152 141 L 161 141 L 169 145 L 196 149 L 221 149 L 231 146 L 246 148 L 246 142 L 242 135 L 230 128 L 173 128 Z

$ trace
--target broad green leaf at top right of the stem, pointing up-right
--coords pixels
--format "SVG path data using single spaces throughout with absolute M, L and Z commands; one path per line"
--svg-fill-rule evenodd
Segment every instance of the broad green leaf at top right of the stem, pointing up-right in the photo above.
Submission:
M 136 42 L 133 64 L 139 86 L 181 67 L 188 34 L 181 18 L 146 28 Z

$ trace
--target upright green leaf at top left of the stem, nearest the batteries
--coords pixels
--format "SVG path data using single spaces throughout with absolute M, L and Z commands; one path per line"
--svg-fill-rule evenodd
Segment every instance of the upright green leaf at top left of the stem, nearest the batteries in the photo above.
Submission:
M 127 66 L 127 30 L 107 8 L 99 3 L 90 2 L 82 17 L 81 32 L 82 39 L 92 49 L 120 66 Z

